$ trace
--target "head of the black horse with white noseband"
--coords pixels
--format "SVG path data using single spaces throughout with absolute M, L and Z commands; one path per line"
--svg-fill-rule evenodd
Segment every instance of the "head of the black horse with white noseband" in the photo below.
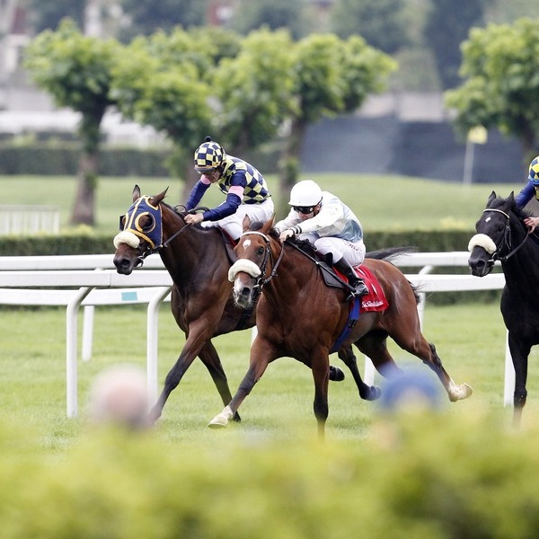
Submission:
M 525 226 L 522 224 L 524 215 L 515 205 L 513 191 L 507 199 L 500 198 L 494 191 L 490 193 L 487 206 L 482 211 L 482 216 L 475 224 L 475 231 L 470 242 L 468 251 L 470 258 L 468 265 L 472 274 L 477 277 L 484 277 L 496 260 L 503 260 L 515 252 L 512 226 L 518 226 L 518 230 L 525 233 Z

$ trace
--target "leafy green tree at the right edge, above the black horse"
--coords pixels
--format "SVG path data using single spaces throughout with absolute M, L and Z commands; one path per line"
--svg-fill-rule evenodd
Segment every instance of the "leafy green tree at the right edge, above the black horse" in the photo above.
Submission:
M 499 128 L 520 139 L 526 159 L 539 153 L 538 21 L 474 28 L 462 49 L 464 84 L 445 93 L 457 132 Z

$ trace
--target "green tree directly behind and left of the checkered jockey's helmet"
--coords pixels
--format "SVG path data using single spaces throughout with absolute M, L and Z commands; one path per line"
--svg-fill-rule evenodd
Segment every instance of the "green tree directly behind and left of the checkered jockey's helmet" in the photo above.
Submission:
M 224 50 L 236 50 L 230 32 L 216 29 L 208 37 L 177 27 L 133 40 L 114 68 L 112 95 L 122 114 L 172 142 L 170 165 L 185 180 L 183 199 L 196 180 L 192 153 L 215 127 L 208 81 Z

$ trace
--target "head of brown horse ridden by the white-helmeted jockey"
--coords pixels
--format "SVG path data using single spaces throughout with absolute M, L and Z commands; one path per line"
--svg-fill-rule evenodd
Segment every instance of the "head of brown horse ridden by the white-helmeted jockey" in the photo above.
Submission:
M 243 218 L 243 234 L 234 252 L 237 261 L 228 271 L 228 280 L 234 283 L 233 297 L 236 305 L 250 308 L 260 296 L 261 288 L 272 277 L 274 266 L 273 248 L 277 240 L 271 238 L 273 218 L 265 223 L 251 223 L 248 216 Z

